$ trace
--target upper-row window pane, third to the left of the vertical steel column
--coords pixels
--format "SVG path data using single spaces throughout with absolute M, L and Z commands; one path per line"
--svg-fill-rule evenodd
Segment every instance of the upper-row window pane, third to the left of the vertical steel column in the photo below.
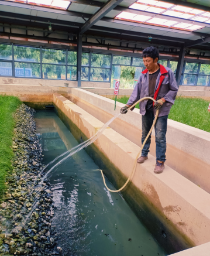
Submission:
M 14 46 L 14 59 L 22 62 L 40 62 L 40 49 L 35 47 Z

